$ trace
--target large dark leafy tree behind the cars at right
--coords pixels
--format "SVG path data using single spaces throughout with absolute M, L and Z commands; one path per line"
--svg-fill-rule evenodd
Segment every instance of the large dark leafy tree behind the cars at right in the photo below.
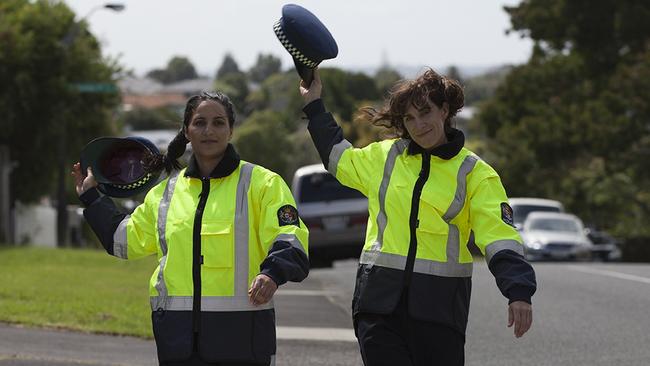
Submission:
M 510 195 L 563 201 L 587 223 L 650 236 L 650 3 L 529 0 L 507 7 L 530 60 L 478 123 Z

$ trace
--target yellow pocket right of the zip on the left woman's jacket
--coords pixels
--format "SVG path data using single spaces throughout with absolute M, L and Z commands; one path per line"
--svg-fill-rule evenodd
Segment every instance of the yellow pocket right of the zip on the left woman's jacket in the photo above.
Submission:
M 231 268 L 234 250 L 234 233 L 230 221 L 204 220 L 201 223 L 201 254 L 204 266 Z

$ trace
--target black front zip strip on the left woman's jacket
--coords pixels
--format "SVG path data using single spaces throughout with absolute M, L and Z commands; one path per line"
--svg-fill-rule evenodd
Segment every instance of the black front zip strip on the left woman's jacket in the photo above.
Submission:
M 201 223 L 203 210 L 210 194 L 210 179 L 201 178 L 201 195 L 199 205 L 194 215 L 194 232 L 192 238 L 192 283 L 194 284 L 194 297 L 192 299 L 192 329 L 199 332 L 201 325 Z

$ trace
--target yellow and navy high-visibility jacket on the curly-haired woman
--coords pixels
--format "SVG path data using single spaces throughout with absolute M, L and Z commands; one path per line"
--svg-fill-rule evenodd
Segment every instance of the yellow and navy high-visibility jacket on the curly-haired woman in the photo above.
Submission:
M 530 302 L 532 267 L 497 173 L 463 147 L 425 151 L 408 139 L 356 149 L 325 112 L 305 108 L 309 131 L 328 171 L 368 197 L 368 228 L 353 311 L 389 314 L 406 290 L 411 315 L 464 333 L 471 292 L 470 234 L 510 301 Z

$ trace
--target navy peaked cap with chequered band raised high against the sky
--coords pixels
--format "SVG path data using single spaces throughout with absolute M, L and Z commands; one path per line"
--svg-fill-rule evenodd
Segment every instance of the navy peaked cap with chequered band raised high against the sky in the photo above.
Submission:
M 339 53 L 336 41 L 325 25 L 302 6 L 282 7 L 282 18 L 273 25 L 275 35 L 293 57 L 300 77 L 310 84 L 315 69 L 323 60 Z

